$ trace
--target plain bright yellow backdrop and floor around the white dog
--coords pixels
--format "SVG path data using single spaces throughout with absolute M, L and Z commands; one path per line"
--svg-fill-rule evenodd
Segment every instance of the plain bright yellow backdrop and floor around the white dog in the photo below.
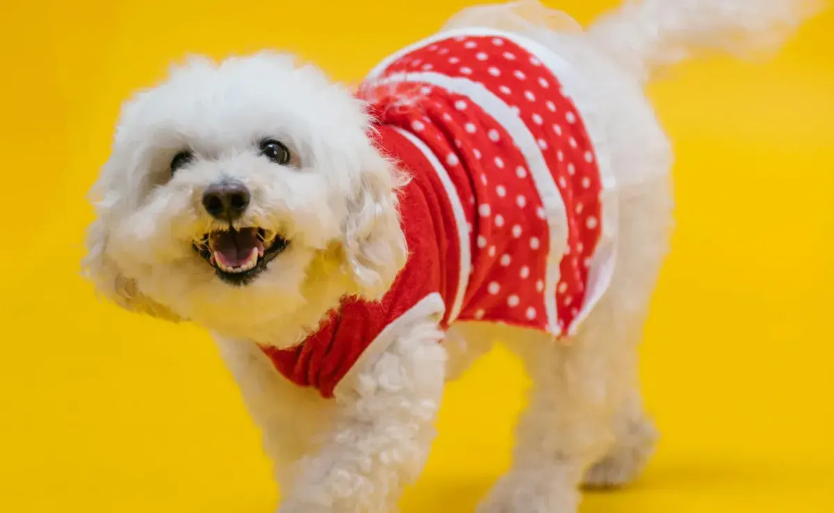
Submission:
M 0 1 L 0 512 L 272 510 L 208 336 L 78 277 L 83 195 L 119 103 L 172 59 L 286 48 L 354 81 L 465 3 Z M 560 7 L 585 23 L 613 4 Z M 834 511 L 832 33 L 829 13 L 771 63 L 690 63 L 651 87 L 677 153 L 642 364 L 663 438 L 639 482 L 586 513 Z M 406 512 L 473 509 L 508 465 L 524 387 L 503 350 L 450 386 Z

